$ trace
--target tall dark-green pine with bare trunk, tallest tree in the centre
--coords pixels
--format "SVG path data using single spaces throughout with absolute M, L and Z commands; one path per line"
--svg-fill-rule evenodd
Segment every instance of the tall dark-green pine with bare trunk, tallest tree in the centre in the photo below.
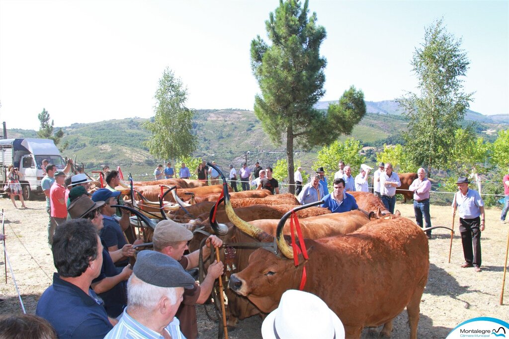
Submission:
M 365 114 L 362 91 L 351 87 L 327 112 L 314 108 L 325 91 L 320 45 L 327 33 L 308 17 L 308 1 L 279 1 L 265 22 L 268 45 L 260 36 L 251 42 L 251 69 L 262 95 L 255 97 L 254 113 L 271 141 L 286 142 L 290 192 L 294 183 L 294 143 L 303 148 L 326 145 L 342 133 L 350 133 Z M 341 123 L 340 123 L 341 121 Z

